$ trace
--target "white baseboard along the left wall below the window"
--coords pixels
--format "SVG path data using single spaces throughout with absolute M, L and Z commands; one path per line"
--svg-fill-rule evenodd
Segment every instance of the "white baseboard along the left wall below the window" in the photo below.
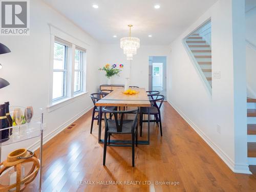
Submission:
M 59 134 L 60 132 L 62 132 L 63 130 L 65 130 L 67 128 L 67 126 L 69 126 L 70 124 L 72 124 L 74 121 L 76 121 L 78 118 L 80 118 L 83 114 L 87 113 L 88 111 L 90 111 L 93 108 L 92 105 L 90 105 L 88 108 L 82 110 L 80 113 L 78 113 L 77 115 L 75 115 L 73 118 L 71 118 L 70 120 L 66 121 L 65 123 L 63 123 L 62 125 L 60 125 L 59 127 L 57 127 L 57 129 L 55 129 L 54 131 L 52 131 L 51 133 L 44 135 L 44 139 L 43 139 L 43 144 L 47 143 L 49 140 L 51 140 L 53 137 L 55 137 L 57 134 Z M 30 145 L 28 147 L 28 149 L 30 151 L 36 151 L 38 148 L 40 147 L 40 140 L 36 141 L 35 143 L 33 143 L 32 145 Z

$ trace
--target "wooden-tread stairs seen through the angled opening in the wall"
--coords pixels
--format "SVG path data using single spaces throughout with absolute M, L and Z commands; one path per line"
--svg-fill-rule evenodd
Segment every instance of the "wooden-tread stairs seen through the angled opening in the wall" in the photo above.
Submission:
M 196 60 L 196 64 L 199 66 L 199 69 L 202 71 L 202 76 L 209 83 L 211 88 L 211 48 L 210 45 L 201 37 L 198 33 L 189 35 L 185 39 L 191 54 Z

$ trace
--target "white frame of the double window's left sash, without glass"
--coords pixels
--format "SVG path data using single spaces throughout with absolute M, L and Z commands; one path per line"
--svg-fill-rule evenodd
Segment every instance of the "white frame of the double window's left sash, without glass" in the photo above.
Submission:
M 54 64 L 53 64 L 53 73 L 54 72 L 65 72 L 63 74 L 65 74 L 65 77 L 64 77 L 64 81 L 63 81 L 63 93 L 61 97 L 57 97 L 57 98 L 52 98 L 52 102 L 57 102 L 59 100 L 62 100 L 62 99 L 65 99 L 68 97 L 68 94 L 67 94 L 67 86 L 68 86 L 68 50 L 69 50 L 69 46 L 65 43 L 63 43 L 62 40 L 59 40 L 59 39 L 55 39 L 54 40 L 54 45 L 55 45 L 55 42 L 59 45 L 62 45 L 62 46 L 65 46 L 65 69 L 54 69 Z M 53 50 L 53 62 L 54 62 L 54 50 Z M 53 79 L 52 79 L 52 86 L 53 86 Z M 52 94 L 53 96 L 53 94 Z

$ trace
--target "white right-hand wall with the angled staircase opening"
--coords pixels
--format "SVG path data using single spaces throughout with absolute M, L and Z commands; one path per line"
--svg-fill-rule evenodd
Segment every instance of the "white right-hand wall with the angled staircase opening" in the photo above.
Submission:
M 247 163 L 245 65 L 241 65 L 245 63 L 245 53 L 241 51 L 238 54 L 239 49 L 245 50 L 244 28 L 241 28 L 244 24 L 243 3 L 219 0 L 170 45 L 172 53 L 167 61 L 167 92 L 168 101 L 234 172 L 250 173 Z M 212 95 L 182 44 L 184 37 L 209 18 L 212 69 L 221 71 L 220 79 L 212 79 Z

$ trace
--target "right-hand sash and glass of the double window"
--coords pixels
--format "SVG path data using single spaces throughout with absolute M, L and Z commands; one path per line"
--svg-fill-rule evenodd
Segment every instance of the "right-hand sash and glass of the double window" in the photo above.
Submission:
M 83 58 L 84 52 L 75 50 L 75 74 L 74 74 L 74 94 L 82 91 L 83 82 Z

